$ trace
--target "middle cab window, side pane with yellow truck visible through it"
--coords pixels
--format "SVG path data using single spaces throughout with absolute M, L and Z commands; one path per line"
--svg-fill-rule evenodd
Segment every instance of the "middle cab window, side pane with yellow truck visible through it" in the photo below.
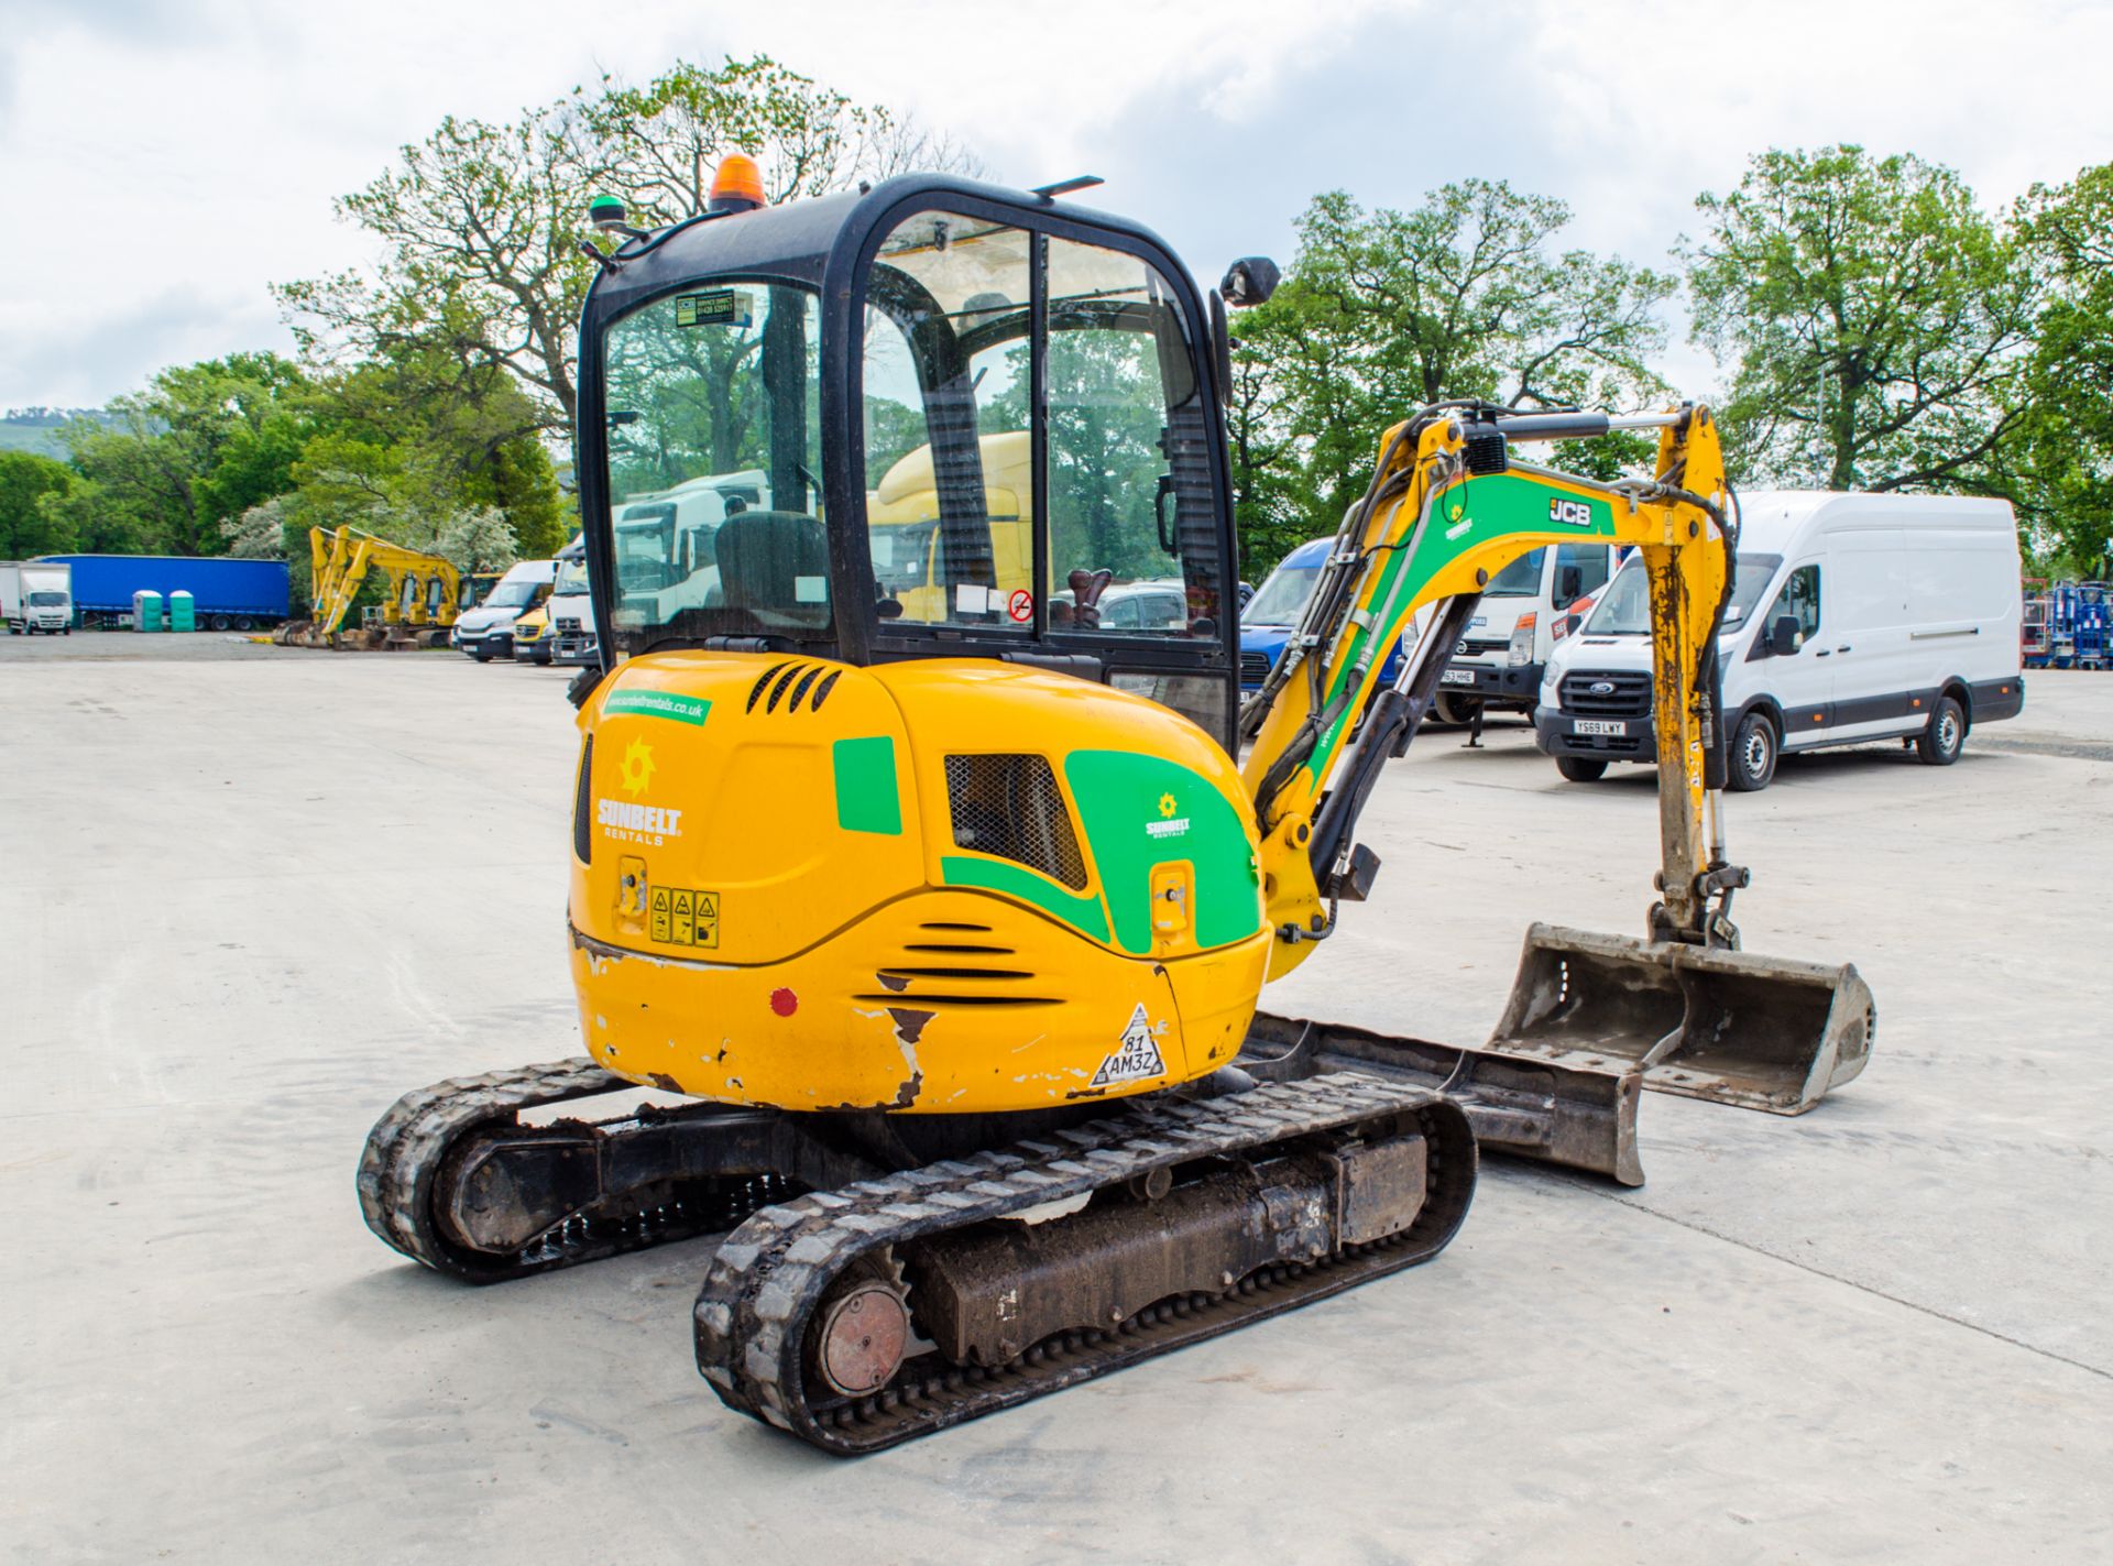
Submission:
M 866 545 L 885 623 L 1033 632 L 1029 260 L 1021 228 L 923 211 L 866 279 Z

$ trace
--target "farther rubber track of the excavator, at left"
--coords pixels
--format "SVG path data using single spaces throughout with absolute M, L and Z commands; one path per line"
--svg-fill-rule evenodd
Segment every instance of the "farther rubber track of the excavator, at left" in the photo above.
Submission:
M 433 1219 L 433 1183 L 448 1160 L 448 1150 L 461 1137 L 484 1124 L 509 1126 L 522 1110 L 636 1086 L 579 1057 L 513 1071 L 459 1076 L 406 1093 L 374 1122 L 359 1154 L 359 1211 L 370 1230 L 410 1260 L 467 1283 L 499 1283 L 695 1234 L 716 1234 L 767 1200 L 761 1192 L 769 1192 L 771 1186 L 761 1181 L 754 1183 L 756 1200 L 740 1200 L 737 1192 L 729 1192 L 718 1200 L 685 1200 L 653 1213 L 623 1217 L 581 1213 L 513 1255 L 469 1251 L 440 1232 Z

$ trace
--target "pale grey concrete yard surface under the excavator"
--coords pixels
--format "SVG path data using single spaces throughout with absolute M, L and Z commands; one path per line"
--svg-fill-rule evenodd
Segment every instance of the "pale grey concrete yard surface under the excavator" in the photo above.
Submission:
M 6 1560 L 2113 1558 L 2113 676 L 1731 801 L 1747 947 L 1878 998 L 1811 1116 L 1646 1095 L 1642 1190 L 1492 1160 L 1424 1268 L 860 1462 L 697 1378 L 704 1241 L 469 1291 L 359 1222 L 391 1099 L 577 1052 L 562 683 L 0 640 Z M 1640 930 L 1648 776 L 1460 740 L 1274 1008 L 1479 1042 L 1528 919 Z

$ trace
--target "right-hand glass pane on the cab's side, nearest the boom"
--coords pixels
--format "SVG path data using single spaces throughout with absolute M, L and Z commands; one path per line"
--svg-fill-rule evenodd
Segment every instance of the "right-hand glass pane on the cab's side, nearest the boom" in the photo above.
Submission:
M 1219 634 L 1190 328 L 1137 256 L 1048 241 L 1050 630 Z

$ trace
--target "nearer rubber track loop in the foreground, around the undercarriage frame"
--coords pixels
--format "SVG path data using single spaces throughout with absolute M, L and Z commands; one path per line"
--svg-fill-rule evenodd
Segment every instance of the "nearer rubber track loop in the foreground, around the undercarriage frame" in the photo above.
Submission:
M 1158 1302 L 1111 1331 L 1067 1331 L 1008 1365 L 919 1369 L 877 1395 L 811 1403 L 807 1323 L 828 1285 L 881 1245 L 1065 1200 L 1162 1164 L 1249 1154 L 1289 1137 L 1411 1114 L 1428 1139 L 1428 1188 L 1416 1222 L 1384 1241 L 1310 1264 L 1261 1268 L 1223 1293 Z M 721 1243 L 697 1293 L 697 1369 L 729 1407 L 824 1452 L 877 1452 L 1437 1255 L 1475 1190 L 1475 1137 L 1458 1105 L 1428 1088 L 1340 1071 L 1209 1101 L 1133 1110 L 1004 1152 L 945 1160 L 765 1207 Z M 911 1310 L 915 1312 L 915 1287 Z

